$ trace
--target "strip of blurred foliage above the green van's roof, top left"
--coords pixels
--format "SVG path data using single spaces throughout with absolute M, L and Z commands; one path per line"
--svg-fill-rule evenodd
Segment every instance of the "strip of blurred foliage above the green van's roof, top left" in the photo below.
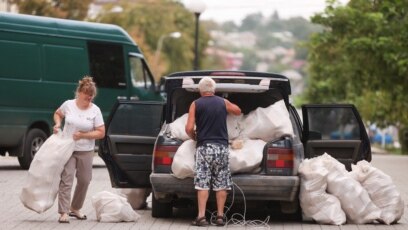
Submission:
M 92 0 L 10 0 L 19 13 L 83 20 Z

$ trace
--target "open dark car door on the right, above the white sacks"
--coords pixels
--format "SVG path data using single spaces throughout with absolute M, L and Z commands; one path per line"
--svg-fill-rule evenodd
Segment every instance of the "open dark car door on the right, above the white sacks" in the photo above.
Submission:
M 370 141 L 354 105 L 302 105 L 302 115 L 305 158 L 328 153 L 348 170 L 357 161 L 371 161 Z

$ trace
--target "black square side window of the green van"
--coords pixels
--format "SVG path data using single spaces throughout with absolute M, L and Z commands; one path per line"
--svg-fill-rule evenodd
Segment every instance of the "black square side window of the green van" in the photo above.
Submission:
M 98 87 L 126 88 L 125 62 L 121 45 L 88 42 L 91 76 Z

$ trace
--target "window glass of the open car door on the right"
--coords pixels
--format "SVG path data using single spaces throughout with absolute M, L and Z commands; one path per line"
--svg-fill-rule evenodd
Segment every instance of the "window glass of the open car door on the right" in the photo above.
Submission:
M 308 108 L 309 133 L 312 139 L 359 140 L 358 120 L 351 108 Z

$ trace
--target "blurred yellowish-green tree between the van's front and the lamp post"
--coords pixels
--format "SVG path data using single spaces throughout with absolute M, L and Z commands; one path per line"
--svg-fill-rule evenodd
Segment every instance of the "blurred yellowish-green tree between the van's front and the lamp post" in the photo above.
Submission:
M 95 20 L 117 24 L 127 30 L 143 50 L 156 78 L 162 75 L 192 70 L 194 59 L 195 17 L 182 4 L 169 0 L 121 1 L 121 13 L 112 13 L 108 5 Z M 199 60 L 204 63 L 204 50 L 209 35 L 200 24 Z M 180 32 L 178 39 L 163 40 L 158 63 L 154 54 L 161 36 Z

